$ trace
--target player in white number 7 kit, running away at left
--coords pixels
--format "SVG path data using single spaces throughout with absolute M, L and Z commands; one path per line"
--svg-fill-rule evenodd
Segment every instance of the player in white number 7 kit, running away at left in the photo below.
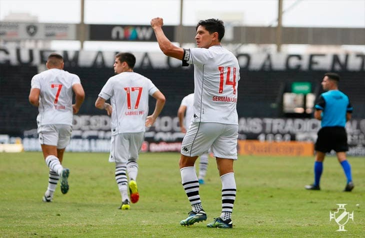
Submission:
M 48 56 L 48 70 L 31 79 L 29 102 L 38 108 L 37 132 L 45 163 L 49 167 L 48 188 L 43 201 L 50 202 L 60 179 L 61 192 L 68 191 L 69 169 L 61 165 L 72 131 L 72 113 L 76 114 L 85 98 L 80 79 L 63 70 L 63 57 Z M 75 104 L 72 104 L 72 91 Z

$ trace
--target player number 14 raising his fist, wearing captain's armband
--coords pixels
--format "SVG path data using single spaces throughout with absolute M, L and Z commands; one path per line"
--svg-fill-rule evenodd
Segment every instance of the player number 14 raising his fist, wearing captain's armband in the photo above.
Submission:
M 192 225 L 206 220 L 194 163 L 199 155 L 211 148 L 222 183 L 222 199 L 220 216 L 207 227 L 232 228 L 231 213 L 236 195 L 233 161 L 237 159 L 238 61 L 220 45 L 224 36 L 224 25 L 220 20 L 199 21 L 195 36 L 197 48 L 191 49 L 174 46 L 164 35 L 162 26 L 161 18 L 151 20 L 161 51 L 181 60 L 183 66 L 194 65 L 194 114 L 182 140 L 179 161 L 182 186 L 192 211 L 180 224 Z

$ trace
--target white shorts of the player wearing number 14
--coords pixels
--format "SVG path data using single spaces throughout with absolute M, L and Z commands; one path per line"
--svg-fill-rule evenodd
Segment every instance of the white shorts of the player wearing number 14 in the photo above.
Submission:
M 209 150 L 215 157 L 237 159 L 238 125 L 192 122 L 182 143 L 181 154 L 199 156 Z

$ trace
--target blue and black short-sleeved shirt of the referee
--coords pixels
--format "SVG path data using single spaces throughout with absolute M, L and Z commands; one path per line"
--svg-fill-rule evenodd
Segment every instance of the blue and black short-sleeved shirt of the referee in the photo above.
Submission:
M 329 90 L 322 93 L 315 102 L 314 108 L 322 110 L 321 127 L 344 127 L 346 125 L 346 113 L 352 112 L 348 97 L 339 90 Z

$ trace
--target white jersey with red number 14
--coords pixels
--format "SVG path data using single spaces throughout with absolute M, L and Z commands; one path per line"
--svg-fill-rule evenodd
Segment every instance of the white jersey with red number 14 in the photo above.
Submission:
M 194 65 L 193 121 L 238 125 L 236 57 L 220 45 L 191 48 L 188 64 Z M 187 54 L 185 54 L 187 56 Z

